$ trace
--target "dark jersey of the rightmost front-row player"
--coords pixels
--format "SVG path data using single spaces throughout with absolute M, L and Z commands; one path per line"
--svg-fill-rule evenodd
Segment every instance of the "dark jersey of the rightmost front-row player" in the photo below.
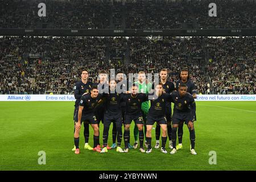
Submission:
M 196 115 L 196 103 L 190 93 L 186 93 L 181 97 L 179 92 L 172 92 L 171 101 L 174 102 L 174 114 L 188 114 L 191 113 L 191 121 Z

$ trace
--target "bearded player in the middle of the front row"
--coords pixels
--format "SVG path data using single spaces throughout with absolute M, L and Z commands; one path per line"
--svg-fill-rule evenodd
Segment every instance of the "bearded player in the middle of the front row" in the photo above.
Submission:
M 139 151 L 145 152 L 143 148 L 143 117 L 141 111 L 142 102 L 147 101 L 147 94 L 138 93 L 138 85 L 133 85 L 130 89 L 130 94 L 124 95 L 124 101 L 126 102 L 126 113 L 124 119 L 125 133 L 123 139 L 125 140 L 125 152 L 129 151 L 129 138 L 130 138 L 130 125 L 131 121 L 135 122 L 139 130 Z

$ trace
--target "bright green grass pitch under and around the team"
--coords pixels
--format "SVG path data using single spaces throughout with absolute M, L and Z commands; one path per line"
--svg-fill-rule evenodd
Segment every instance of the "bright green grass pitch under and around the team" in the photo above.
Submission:
M 189 152 L 189 134 L 184 126 L 183 149 L 175 155 L 153 148 L 106 154 L 73 147 L 73 102 L 0 102 L 0 170 L 255 170 L 256 102 L 197 102 L 196 152 Z M 131 144 L 134 143 L 131 126 Z M 102 134 L 102 124 L 100 132 Z M 110 126 L 109 144 L 112 144 Z M 89 143 L 93 144 L 90 128 Z M 102 136 L 101 136 L 102 137 Z M 100 138 L 102 144 L 102 138 Z M 168 144 L 168 141 L 167 141 Z M 155 130 L 152 130 L 152 146 Z M 123 147 L 123 141 L 122 141 Z M 39 165 L 39 151 L 46 164 Z M 217 164 L 209 164 L 216 151 Z

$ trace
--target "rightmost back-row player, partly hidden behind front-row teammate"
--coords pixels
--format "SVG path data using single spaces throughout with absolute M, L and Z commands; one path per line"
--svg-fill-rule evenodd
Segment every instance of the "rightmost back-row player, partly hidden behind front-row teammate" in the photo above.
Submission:
M 190 93 L 193 96 L 193 98 L 196 98 L 196 86 L 193 83 L 193 81 L 191 81 L 190 79 L 188 69 L 182 69 L 180 71 L 179 77 L 180 77 L 180 80 L 176 82 L 176 90 L 179 88 L 180 84 L 185 84 L 188 87 L 187 92 Z M 196 120 L 196 116 L 195 116 L 195 120 Z M 179 145 L 176 146 L 177 150 L 182 148 L 183 125 L 184 125 L 184 122 L 179 123 L 179 128 L 177 132 L 178 138 L 179 138 Z

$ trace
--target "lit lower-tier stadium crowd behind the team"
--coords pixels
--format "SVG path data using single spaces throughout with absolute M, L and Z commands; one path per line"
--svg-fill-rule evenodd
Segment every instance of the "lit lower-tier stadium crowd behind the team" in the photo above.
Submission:
M 197 94 L 255 93 L 255 37 L 6 36 L 0 40 L 1 94 L 72 94 L 81 67 L 88 68 L 93 82 L 101 69 L 128 75 L 139 71 L 158 73 L 168 68 L 174 83 L 179 80 L 180 69 L 188 68 Z

